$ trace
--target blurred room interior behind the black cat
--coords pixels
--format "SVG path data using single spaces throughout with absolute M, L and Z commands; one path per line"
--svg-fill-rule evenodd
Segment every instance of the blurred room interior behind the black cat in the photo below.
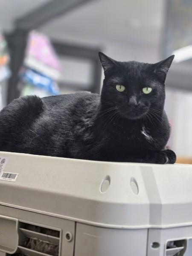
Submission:
M 0 109 L 20 95 L 99 93 L 99 50 L 149 63 L 175 54 L 168 147 L 192 163 L 191 0 L 2 0 L 0 29 Z

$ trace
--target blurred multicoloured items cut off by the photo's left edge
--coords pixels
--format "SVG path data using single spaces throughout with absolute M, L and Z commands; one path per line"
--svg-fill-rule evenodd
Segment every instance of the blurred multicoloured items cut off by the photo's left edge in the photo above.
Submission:
M 0 33 L 0 82 L 8 79 L 11 75 L 9 69 L 9 52 L 7 43 L 3 35 Z

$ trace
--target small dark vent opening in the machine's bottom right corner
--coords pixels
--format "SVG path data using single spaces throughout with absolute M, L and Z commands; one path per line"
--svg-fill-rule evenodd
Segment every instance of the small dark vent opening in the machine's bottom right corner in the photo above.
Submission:
M 187 241 L 175 240 L 168 241 L 166 244 L 166 256 L 183 256 L 186 251 Z

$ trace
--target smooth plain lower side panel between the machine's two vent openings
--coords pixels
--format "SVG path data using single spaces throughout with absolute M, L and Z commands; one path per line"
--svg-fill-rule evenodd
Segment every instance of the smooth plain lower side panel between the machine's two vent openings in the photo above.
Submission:
M 75 256 L 146 256 L 147 229 L 76 226 Z

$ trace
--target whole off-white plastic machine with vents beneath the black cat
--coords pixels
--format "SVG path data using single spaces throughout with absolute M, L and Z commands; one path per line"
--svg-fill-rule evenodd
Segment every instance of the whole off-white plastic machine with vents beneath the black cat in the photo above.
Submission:
M 48 256 L 30 237 L 59 256 L 191 256 L 192 165 L 0 152 L 0 256 Z

